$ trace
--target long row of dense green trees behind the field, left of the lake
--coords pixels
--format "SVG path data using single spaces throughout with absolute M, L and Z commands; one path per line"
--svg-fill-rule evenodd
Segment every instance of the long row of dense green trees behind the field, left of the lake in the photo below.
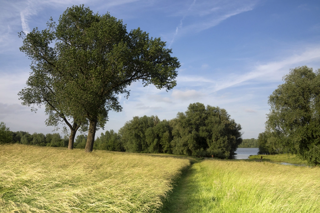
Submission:
M 30 134 L 25 134 L 23 138 Z M 51 146 L 55 134 L 37 134 L 34 138 L 42 142 L 20 143 Z M 202 103 L 191 103 L 186 112 L 179 112 L 176 118 L 160 120 L 157 116 L 133 117 L 126 122 L 118 133 L 113 130 L 101 133 L 94 142 L 94 149 L 109 151 L 126 151 L 135 153 L 168 153 L 187 156 L 214 156 L 222 159 L 234 154 L 242 143 L 241 126 L 225 109 L 204 106 Z M 59 135 L 60 136 L 60 135 Z M 67 137 L 59 138 L 61 147 L 67 146 Z M 44 141 L 48 142 L 44 142 Z M 51 140 L 51 141 L 50 141 Z M 75 148 L 85 148 L 87 136 L 78 135 Z M 49 143 L 50 141 L 50 143 Z M 14 141 L 13 141 L 14 142 Z

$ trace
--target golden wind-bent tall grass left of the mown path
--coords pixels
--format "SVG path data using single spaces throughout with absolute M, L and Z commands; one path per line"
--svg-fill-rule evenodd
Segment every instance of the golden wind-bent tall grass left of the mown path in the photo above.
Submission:
M 0 212 L 155 212 L 189 160 L 0 146 Z

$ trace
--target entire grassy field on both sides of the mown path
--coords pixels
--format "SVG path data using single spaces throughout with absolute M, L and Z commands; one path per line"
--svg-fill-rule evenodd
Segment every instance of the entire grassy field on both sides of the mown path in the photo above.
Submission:
M 288 155 L 252 158 L 2 145 L 0 212 L 319 212 L 319 167 L 268 162 L 303 163 Z

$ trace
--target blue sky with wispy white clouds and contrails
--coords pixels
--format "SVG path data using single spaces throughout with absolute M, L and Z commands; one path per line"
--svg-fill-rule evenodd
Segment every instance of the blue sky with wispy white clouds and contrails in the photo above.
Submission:
M 320 68 L 320 2 L 294 0 L 153 1 L 28 0 L 0 1 L 0 121 L 12 131 L 52 133 L 44 110 L 22 106 L 30 61 L 20 52 L 18 32 L 40 30 L 72 5 L 107 11 L 127 30 L 140 27 L 161 37 L 178 57 L 177 86 L 166 92 L 141 82 L 119 96 L 122 112 L 110 112 L 105 130 L 117 131 L 133 116 L 172 119 L 190 103 L 219 106 L 241 124 L 243 138 L 264 131 L 268 96 L 290 68 Z M 101 132 L 99 130 L 96 136 Z

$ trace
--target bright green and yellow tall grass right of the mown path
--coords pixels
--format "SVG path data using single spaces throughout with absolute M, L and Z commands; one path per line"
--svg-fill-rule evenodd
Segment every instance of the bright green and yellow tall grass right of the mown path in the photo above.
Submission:
M 320 169 L 205 160 L 182 176 L 162 213 L 319 212 Z

